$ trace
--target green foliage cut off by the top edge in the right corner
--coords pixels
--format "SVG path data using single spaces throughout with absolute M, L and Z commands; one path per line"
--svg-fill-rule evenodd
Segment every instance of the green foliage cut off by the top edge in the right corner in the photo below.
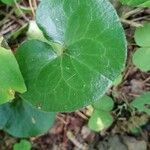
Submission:
M 122 4 L 138 7 L 150 7 L 150 0 L 120 0 Z

